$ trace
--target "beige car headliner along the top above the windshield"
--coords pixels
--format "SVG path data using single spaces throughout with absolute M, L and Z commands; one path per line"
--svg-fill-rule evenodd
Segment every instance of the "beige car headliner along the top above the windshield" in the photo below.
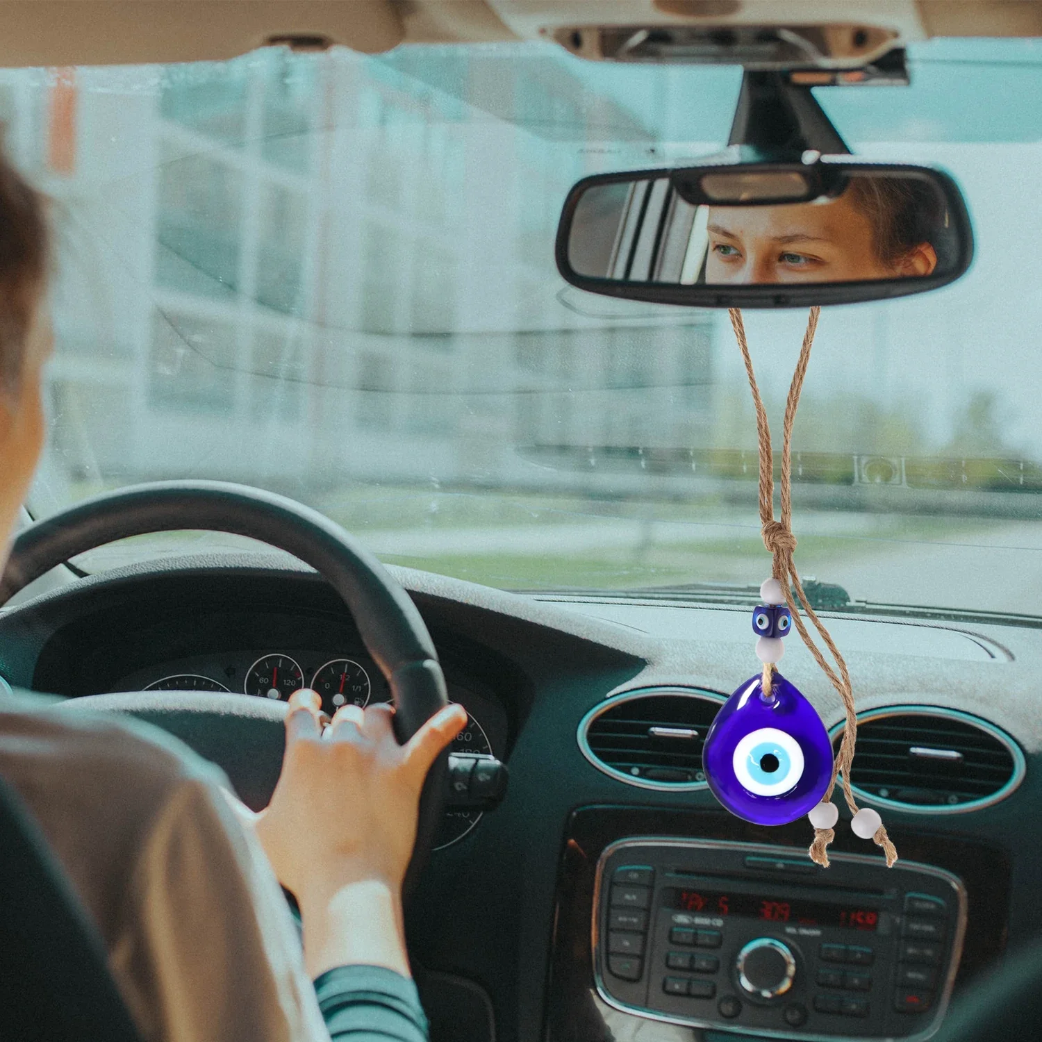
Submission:
M 1042 4 L 1011 0 L 0 0 L 0 66 L 232 57 L 272 41 L 378 52 L 399 43 L 561 39 L 570 26 L 820 25 L 932 36 L 1042 34 Z

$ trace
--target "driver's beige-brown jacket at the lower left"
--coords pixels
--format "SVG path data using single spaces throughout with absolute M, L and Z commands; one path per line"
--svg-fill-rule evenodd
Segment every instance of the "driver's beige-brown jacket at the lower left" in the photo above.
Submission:
M 100 927 L 147 1042 L 328 1042 L 282 893 L 217 768 L 151 727 L 36 709 L 0 713 L 0 774 Z

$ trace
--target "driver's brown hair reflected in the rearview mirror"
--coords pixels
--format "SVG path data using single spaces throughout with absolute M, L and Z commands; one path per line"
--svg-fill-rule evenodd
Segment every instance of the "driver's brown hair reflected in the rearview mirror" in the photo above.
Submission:
M 851 177 L 850 201 L 872 225 L 876 257 L 892 267 L 923 243 L 934 245 L 941 223 L 937 190 L 919 177 Z

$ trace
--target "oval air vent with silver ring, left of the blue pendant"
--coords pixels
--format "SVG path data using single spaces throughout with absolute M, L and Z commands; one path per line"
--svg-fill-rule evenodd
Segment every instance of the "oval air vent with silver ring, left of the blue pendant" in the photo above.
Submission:
M 702 745 L 723 702 L 693 688 L 627 691 L 582 718 L 579 748 L 619 782 L 669 792 L 703 789 Z

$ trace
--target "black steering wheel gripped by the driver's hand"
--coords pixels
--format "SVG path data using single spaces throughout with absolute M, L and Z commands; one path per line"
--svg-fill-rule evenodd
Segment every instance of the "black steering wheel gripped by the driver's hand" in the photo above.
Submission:
M 311 565 L 344 598 L 387 677 L 395 733 L 407 741 L 447 703 L 438 652 L 420 613 L 383 566 L 328 518 L 259 489 L 223 481 L 158 481 L 105 493 L 24 529 L 0 578 L 0 605 L 56 565 L 128 536 L 197 528 L 259 540 Z M 128 713 L 180 738 L 222 767 L 243 801 L 267 805 L 284 749 L 284 702 L 208 692 L 84 695 L 60 710 Z M 444 805 L 448 752 L 420 799 L 408 891 L 430 850 Z

